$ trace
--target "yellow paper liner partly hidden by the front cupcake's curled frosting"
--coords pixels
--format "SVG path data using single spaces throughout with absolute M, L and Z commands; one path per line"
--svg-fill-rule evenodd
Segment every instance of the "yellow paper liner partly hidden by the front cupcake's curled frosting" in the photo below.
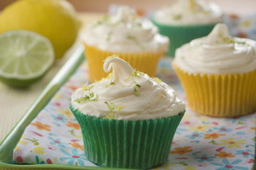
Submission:
M 158 61 L 161 56 L 163 56 L 164 52 L 160 53 L 114 53 L 114 52 L 107 52 L 102 51 L 94 46 L 85 46 L 85 55 L 86 59 L 88 60 L 88 67 L 89 67 L 89 79 L 90 81 L 100 80 L 108 76 L 108 73 L 103 71 L 103 60 L 106 57 L 116 54 L 121 59 L 129 62 L 134 69 L 138 69 L 143 73 L 147 73 L 148 76 L 154 76 L 156 73 L 156 68 Z

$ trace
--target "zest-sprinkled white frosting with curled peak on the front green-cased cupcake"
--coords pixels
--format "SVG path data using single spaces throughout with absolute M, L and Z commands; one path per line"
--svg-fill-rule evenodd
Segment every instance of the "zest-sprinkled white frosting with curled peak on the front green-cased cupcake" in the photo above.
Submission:
M 77 89 L 72 94 L 72 106 L 85 115 L 117 120 L 170 117 L 185 110 L 185 104 L 163 81 L 134 71 L 125 60 L 118 57 L 108 58 L 104 62 L 104 71 L 109 72 L 111 69 L 111 78 L 92 83 L 86 90 Z M 87 97 L 81 100 L 81 97 L 92 93 L 90 99 Z

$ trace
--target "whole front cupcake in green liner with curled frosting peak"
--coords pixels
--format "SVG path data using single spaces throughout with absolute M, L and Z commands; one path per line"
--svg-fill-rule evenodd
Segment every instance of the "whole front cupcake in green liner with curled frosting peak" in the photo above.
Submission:
M 166 83 L 125 60 L 109 57 L 104 71 L 111 69 L 107 78 L 72 94 L 86 157 L 99 166 L 132 169 L 166 162 L 184 103 Z

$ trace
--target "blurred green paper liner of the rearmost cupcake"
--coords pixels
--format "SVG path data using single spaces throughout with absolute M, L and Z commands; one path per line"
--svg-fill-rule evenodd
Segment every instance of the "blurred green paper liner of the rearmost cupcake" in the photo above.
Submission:
M 151 18 L 154 25 L 159 29 L 160 34 L 170 39 L 168 56 L 175 56 L 175 50 L 193 39 L 207 36 L 216 24 L 209 25 L 165 25 L 160 24 Z

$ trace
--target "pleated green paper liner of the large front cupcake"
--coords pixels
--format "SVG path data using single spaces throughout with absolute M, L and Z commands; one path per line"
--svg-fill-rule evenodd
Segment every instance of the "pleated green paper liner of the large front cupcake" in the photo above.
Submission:
M 70 105 L 81 126 L 84 153 L 103 167 L 148 169 L 168 160 L 185 111 L 156 120 L 115 120 L 84 115 Z

